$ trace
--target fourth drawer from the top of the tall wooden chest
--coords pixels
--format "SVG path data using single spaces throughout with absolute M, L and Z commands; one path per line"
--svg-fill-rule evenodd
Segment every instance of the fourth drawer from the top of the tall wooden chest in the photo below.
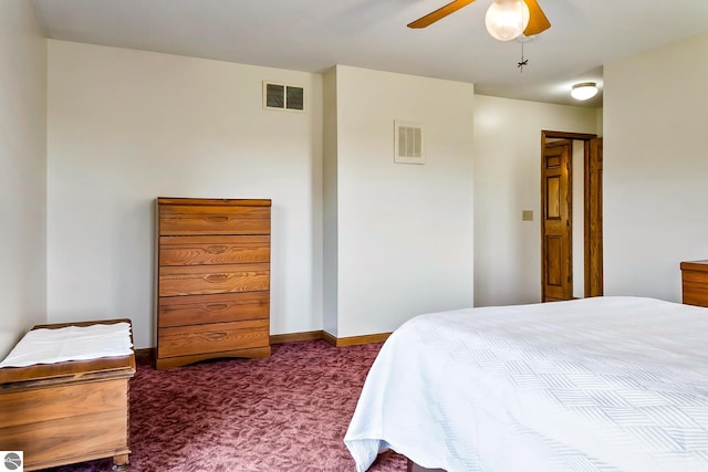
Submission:
M 268 319 L 269 307 L 269 291 L 162 297 L 158 327 Z

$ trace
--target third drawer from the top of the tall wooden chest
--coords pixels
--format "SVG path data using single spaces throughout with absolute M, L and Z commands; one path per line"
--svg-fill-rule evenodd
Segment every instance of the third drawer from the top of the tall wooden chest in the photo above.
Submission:
M 270 264 L 159 268 L 159 296 L 253 292 L 270 289 Z

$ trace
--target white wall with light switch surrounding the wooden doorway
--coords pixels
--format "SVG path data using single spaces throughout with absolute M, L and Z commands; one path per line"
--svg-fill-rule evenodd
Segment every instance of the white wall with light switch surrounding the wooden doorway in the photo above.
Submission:
M 541 130 L 596 124 L 592 108 L 475 96 L 476 306 L 541 300 Z

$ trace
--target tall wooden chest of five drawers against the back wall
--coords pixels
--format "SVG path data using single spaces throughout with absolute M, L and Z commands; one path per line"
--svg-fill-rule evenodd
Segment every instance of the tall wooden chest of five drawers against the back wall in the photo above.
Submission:
M 270 355 L 270 200 L 157 199 L 157 368 Z

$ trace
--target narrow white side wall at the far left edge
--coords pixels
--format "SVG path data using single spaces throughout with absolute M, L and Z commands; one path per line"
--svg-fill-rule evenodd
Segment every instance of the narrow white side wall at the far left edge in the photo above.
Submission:
M 25 0 L 0 2 L 0 358 L 46 322 L 46 40 Z

